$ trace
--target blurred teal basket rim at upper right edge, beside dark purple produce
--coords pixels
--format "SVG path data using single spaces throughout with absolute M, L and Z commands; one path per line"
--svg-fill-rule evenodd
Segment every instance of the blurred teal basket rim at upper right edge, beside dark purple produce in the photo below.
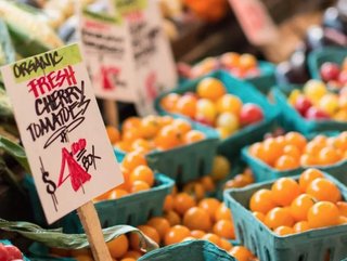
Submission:
M 340 65 L 345 57 L 347 57 L 346 48 L 330 47 L 310 52 L 308 55 L 308 68 L 311 77 L 313 79 L 322 80 L 320 74 L 321 65 L 325 62 L 332 62 Z

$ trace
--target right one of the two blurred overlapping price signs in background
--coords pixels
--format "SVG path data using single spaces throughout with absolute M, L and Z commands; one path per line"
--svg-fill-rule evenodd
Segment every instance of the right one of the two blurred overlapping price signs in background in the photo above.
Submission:
M 129 31 L 139 96 L 139 114 L 155 113 L 153 101 L 164 90 L 177 84 L 176 65 L 162 25 L 157 1 L 114 0 L 116 12 Z

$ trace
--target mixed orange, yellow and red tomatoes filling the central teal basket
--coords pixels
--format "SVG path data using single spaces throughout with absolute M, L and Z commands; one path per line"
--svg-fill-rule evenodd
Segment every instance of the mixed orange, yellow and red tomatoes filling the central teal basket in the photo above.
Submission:
M 202 79 L 195 92 L 169 93 L 163 97 L 160 106 L 166 112 L 216 128 L 221 138 L 255 125 L 265 117 L 260 106 L 243 103 L 239 96 L 227 93 L 223 82 L 214 77 Z

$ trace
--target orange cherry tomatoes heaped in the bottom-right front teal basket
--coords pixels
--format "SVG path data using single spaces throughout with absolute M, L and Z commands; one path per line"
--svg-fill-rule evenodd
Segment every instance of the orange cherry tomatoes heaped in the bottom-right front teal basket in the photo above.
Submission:
M 298 180 L 281 178 L 253 194 L 249 210 L 280 236 L 347 224 L 347 203 L 339 187 L 314 168 Z

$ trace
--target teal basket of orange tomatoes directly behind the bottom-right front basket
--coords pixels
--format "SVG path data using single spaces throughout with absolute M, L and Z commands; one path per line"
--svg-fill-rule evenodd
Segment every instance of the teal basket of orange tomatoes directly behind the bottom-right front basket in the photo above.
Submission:
M 314 167 L 346 184 L 346 132 L 335 136 L 319 134 L 311 140 L 297 132 L 269 138 L 242 151 L 257 182 L 299 174 Z

